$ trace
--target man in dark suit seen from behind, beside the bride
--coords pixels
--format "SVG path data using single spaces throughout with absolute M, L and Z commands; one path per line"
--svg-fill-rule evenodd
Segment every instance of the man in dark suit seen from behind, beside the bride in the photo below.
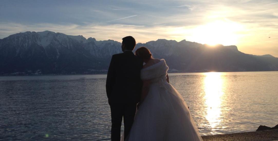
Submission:
M 143 61 L 132 52 L 135 39 L 127 36 L 122 40 L 123 53 L 112 56 L 106 79 L 106 94 L 112 118 L 112 141 L 119 141 L 121 138 L 122 118 L 125 126 L 124 138 L 128 136 L 142 87 L 140 70 Z

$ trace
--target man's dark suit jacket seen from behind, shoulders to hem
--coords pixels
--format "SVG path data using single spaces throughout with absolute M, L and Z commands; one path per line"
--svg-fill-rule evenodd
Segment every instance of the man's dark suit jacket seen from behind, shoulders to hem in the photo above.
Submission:
M 111 103 L 137 103 L 140 100 L 143 61 L 132 51 L 112 56 L 106 79 L 106 94 Z

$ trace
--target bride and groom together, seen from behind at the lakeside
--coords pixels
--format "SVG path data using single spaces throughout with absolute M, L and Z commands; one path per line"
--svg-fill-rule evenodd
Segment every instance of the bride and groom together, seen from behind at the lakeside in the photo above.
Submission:
M 123 53 L 112 56 L 108 69 L 111 140 L 120 141 L 122 118 L 124 140 L 202 140 L 185 101 L 169 84 L 165 60 L 154 59 L 146 47 L 134 55 L 135 44 L 133 37 L 124 37 Z

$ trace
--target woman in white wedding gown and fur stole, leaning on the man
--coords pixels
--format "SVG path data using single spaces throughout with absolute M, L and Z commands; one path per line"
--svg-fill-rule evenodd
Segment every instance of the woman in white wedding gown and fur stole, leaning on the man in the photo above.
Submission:
M 126 140 L 202 140 L 187 104 L 169 84 L 165 60 L 154 59 L 146 47 L 140 47 L 135 54 L 146 64 L 141 70 L 141 101 Z

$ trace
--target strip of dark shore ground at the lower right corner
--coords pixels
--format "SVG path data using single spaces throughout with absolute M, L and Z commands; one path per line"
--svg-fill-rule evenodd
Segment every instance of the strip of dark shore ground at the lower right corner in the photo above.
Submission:
M 243 132 L 223 135 L 202 136 L 204 141 L 278 141 L 278 129 L 263 130 L 255 132 Z

